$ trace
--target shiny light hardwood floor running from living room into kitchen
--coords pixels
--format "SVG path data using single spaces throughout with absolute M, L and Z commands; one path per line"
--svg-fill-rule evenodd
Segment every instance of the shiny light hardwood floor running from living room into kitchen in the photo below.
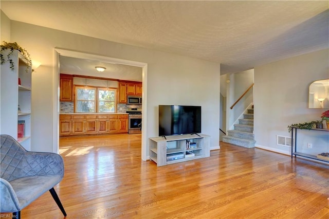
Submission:
M 140 134 L 61 138 L 66 218 L 329 218 L 329 166 L 221 142 L 209 158 L 157 168 L 140 144 Z M 50 193 L 21 214 L 63 218 Z

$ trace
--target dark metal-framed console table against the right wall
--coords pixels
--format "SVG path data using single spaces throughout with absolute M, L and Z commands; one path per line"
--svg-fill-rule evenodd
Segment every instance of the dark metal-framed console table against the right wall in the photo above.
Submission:
M 298 131 L 299 130 L 299 131 Z M 298 144 L 297 143 L 297 133 L 299 133 L 301 130 L 305 130 L 309 133 L 312 133 L 313 135 L 317 135 L 316 133 L 324 133 L 319 135 L 322 136 L 324 139 L 323 141 L 325 142 L 325 144 L 321 144 L 321 145 L 313 145 L 312 143 L 307 143 L 307 142 L 302 142 L 304 143 L 304 151 L 301 152 L 300 147 L 302 145 L 302 143 Z M 307 132 L 304 132 L 307 134 Z M 306 143 L 306 146 L 305 146 Z M 293 127 L 291 130 L 291 159 L 295 156 L 300 156 L 300 157 L 306 157 L 306 158 L 310 158 L 313 160 L 317 160 L 317 161 L 321 161 L 324 163 L 329 163 L 329 157 L 324 157 L 321 156 L 320 152 L 319 152 L 319 147 L 321 147 L 321 149 L 323 148 L 323 152 L 322 153 L 328 153 L 329 152 L 329 130 L 327 129 L 300 129 L 299 127 Z M 302 148 L 303 149 L 303 148 Z M 308 152 L 305 152 L 305 150 L 307 150 Z

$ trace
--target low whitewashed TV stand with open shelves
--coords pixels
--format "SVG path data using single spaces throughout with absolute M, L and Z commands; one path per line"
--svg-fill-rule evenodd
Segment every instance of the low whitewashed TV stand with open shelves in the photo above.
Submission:
M 157 167 L 209 156 L 209 135 L 187 134 L 150 138 L 150 160 L 156 162 Z

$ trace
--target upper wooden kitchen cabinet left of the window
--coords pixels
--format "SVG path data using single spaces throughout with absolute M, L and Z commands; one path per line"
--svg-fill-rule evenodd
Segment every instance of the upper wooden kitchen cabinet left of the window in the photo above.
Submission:
M 73 102 L 73 76 L 60 74 L 60 101 Z

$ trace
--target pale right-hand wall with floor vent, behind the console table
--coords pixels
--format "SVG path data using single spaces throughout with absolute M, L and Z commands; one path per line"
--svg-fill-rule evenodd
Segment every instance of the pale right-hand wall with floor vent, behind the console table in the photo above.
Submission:
M 256 147 L 281 153 L 276 135 L 288 136 L 293 123 L 321 120 L 325 109 L 308 108 L 308 86 L 329 78 L 328 49 L 254 68 L 254 135 Z

